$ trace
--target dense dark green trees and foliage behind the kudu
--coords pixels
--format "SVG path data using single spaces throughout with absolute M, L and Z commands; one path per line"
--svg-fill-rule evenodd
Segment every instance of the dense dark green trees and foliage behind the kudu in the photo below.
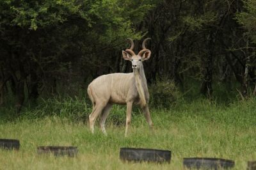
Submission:
M 128 37 L 136 50 L 152 38 L 144 67 L 148 83 L 159 84 L 153 97 L 172 98 L 172 89 L 180 95 L 175 86 L 186 93 L 193 82 L 209 98 L 213 84 L 250 97 L 255 23 L 255 0 L 2 0 L 0 105 L 14 96 L 20 112 L 40 96 L 75 96 L 99 75 L 131 72 L 121 57 Z

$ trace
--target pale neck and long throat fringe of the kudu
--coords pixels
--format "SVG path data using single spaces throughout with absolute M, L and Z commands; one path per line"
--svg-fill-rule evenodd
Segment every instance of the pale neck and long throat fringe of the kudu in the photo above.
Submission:
M 139 70 L 134 70 L 135 85 L 140 95 L 140 102 L 142 106 L 147 105 L 148 100 L 148 86 L 147 79 L 145 77 L 143 65 Z

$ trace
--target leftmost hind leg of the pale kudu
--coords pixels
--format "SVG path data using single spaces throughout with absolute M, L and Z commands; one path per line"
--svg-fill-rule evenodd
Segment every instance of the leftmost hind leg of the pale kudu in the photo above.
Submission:
M 94 123 L 105 106 L 106 106 L 106 103 L 103 103 L 103 102 L 96 103 L 92 113 L 89 116 L 89 123 L 90 123 L 90 128 L 92 133 L 94 133 Z

